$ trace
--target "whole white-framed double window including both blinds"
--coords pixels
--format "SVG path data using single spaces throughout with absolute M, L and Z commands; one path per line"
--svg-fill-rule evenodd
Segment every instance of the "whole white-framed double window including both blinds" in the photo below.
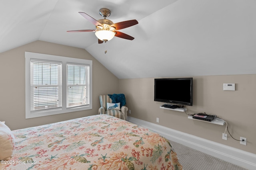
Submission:
M 25 52 L 26 119 L 92 109 L 92 61 Z

